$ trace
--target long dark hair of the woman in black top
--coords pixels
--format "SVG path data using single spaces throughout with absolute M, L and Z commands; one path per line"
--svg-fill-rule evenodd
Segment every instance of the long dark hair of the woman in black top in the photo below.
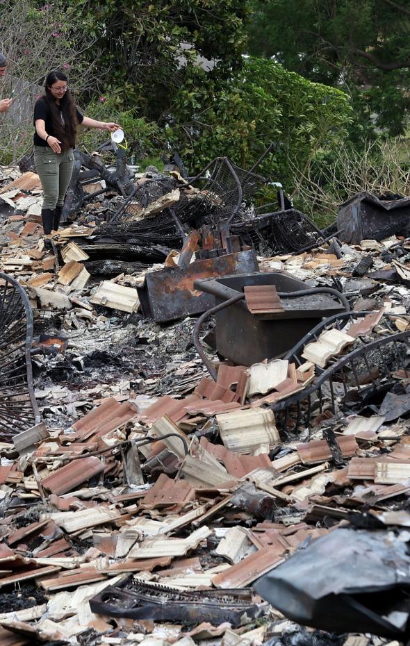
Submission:
M 44 99 L 47 102 L 50 112 L 51 112 L 51 122 L 53 124 L 53 131 L 56 134 L 56 138 L 61 142 L 61 149 L 63 151 L 68 150 L 69 148 L 74 148 L 76 144 L 76 134 L 77 126 L 79 125 L 77 115 L 76 115 L 76 106 L 74 104 L 74 99 L 69 90 L 63 94 L 63 97 L 60 98 L 60 108 L 56 104 L 56 99 L 50 92 L 50 86 L 54 85 L 57 81 L 66 81 L 68 82 L 67 76 L 64 72 L 60 72 L 59 69 L 55 69 L 54 72 L 50 72 L 45 80 L 45 94 Z M 63 120 L 61 119 L 63 115 Z

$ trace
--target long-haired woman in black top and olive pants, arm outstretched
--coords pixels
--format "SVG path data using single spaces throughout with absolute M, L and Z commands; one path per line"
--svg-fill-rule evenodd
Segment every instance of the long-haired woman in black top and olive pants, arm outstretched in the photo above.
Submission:
M 113 132 L 117 124 L 96 121 L 77 110 L 64 72 L 56 69 L 45 80 L 45 92 L 34 106 L 34 164 L 44 192 L 41 212 L 44 235 L 58 230 L 65 193 L 74 167 L 77 128 Z

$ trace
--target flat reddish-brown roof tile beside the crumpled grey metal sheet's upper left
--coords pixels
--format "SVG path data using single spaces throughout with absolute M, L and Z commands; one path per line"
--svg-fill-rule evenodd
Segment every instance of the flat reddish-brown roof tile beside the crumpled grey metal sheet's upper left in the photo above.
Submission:
M 212 582 L 215 588 L 245 588 L 283 562 L 284 559 L 275 554 L 270 546 L 263 547 L 259 552 L 246 556 L 236 565 L 216 574 L 212 577 Z

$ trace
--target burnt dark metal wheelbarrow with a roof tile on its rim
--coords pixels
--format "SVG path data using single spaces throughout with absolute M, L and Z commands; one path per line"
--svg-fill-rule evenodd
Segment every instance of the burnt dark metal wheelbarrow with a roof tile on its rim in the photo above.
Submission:
M 274 285 L 282 310 L 270 313 L 249 311 L 244 288 L 253 285 Z M 337 290 L 311 289 L 306 283 L 283 272 L 197 280 L 194 287 L 215 297 L 215 307 L 199 318 L 194 330 L 195 347 L 214 378 L 215 370 L 199 343 L 201 326 L 212 314 L 215 314 L 215 347 L 218 353 L 233 363 L 249 366 L 284 355 L 323 317 L 350 310 L 347 299 Z

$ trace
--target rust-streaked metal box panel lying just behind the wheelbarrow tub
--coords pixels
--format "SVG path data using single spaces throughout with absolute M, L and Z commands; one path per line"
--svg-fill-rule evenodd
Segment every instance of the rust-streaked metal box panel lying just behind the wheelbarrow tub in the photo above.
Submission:
M 214 298 L 195 289 L 195 281 L 257 271 L 256 253 L 252 250 L 152 272 L 137 288 L 142 314 L 156 322 L 166 322 L 205 312 L 214 305 Z

